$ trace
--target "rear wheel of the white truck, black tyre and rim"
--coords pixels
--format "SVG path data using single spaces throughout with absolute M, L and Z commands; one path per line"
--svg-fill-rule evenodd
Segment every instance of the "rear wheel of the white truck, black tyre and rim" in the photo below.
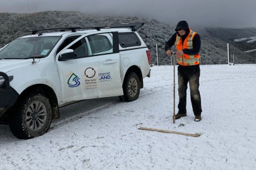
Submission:
M 121 101 L 134 101 L 140 95 L 140 79 L 135 72 L 130 72 L 123 82 L 123 96 Z

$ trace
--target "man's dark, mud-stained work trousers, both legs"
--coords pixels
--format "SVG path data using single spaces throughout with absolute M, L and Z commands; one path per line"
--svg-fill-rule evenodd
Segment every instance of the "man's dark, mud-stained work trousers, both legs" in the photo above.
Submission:
M 200 67 L 199 65 L 190 66 L 178 66 L 178 92 L 179 92 L 179 105 L 178 113 L 186 114 L 186 89 L 188 83 L 190 85 L 190 99 L 192 103 L 193 113 L 195 116 L 199 116 L 202 113 L 201 96 L 199 92 L 199 77 Z

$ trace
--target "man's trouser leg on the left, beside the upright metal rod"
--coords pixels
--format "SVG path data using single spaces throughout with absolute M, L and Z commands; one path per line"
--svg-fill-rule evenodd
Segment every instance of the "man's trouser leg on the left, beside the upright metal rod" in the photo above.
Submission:
M 180 98 L 178 104 L 178 113 L 183 115 L 186 114 L 186 89 L 188 88 L 188 78 L 180 66 L 178 66 L 178 86 L 178 93 Z

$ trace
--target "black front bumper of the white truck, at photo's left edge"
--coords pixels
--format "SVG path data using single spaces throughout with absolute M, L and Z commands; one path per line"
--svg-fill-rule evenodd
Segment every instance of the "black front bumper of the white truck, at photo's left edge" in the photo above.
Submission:
M 4 78 L 4 84 L 0 86 L 0 119 L 8 111 L 11 106 L 15 105 L 18 99 L 18 93 L 15 89 L 9 86 L 9 77 L 4 73 L 0 72 L 0 77 Z

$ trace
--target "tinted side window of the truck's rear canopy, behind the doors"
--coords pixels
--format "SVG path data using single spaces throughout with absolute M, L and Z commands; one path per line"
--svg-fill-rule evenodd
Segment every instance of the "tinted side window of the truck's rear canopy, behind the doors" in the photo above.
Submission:
M 119 33 L 119 44 L 121 47 L 133 47 L 142 43 L 135 33 Z

